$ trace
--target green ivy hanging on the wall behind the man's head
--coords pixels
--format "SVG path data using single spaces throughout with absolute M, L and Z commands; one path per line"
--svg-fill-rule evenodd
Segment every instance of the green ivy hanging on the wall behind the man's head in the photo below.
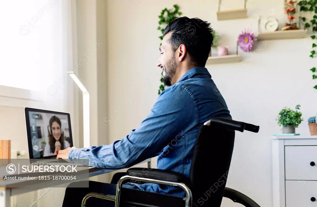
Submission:
M 162 35 L 159 36 L 161 40 L 163 40 L 163 34 L 164 34 L 164 29 L 167 26 L 167 24 L 175 17 L 178 15 L 182 15 L 182 12 L 179 12 L 179 6 L 177 4 L 173 5 L 174 9 L 167 9 L 165 8 L 164 10 L 161 11 L 161 15 L 159 16 L 159 27 L 158 30 L 162 32 Z M 162 43 L 160 43 L 161 46 Z M 161 77 L 161 85 L 159 87 L 159 94 L 161 94 L 165 90 L 165 86 L 163 84 L 163 72 L 162 72 L 162 77 Z

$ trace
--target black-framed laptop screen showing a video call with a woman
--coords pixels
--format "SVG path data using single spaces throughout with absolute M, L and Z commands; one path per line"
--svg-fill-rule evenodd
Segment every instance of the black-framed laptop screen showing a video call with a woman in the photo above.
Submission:
M 54 158 L 73 146 L 69 113 L 25 108 L 30 158 Z

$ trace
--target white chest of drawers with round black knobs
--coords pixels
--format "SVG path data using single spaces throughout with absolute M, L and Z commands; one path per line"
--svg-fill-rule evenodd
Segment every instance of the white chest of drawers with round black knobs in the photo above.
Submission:
M 317 207 L 317 136 L 272 140 L 273 207 Z

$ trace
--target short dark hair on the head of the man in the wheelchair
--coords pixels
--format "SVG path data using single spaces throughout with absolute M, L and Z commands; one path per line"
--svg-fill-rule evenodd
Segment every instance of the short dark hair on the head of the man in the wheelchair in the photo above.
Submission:
M 184 44 L 193 65 L 205 67 L 213 41 L 210 23 L 199 18 L 175 17 L 165 27 L 163 37 L 169 32 L 172 32 L 169 43 L 173 52 Z

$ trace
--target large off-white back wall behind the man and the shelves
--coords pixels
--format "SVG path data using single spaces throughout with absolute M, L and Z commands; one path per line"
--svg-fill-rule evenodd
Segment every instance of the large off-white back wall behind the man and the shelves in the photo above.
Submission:
M 133 4 L 134 3 L 134 4 Z M 160 69 L 159 14 L 165 7 L 180 6 L 183 16 L 199 17 L 211 23 L 221 35 L 220 44 L 236 51 L 236 40 L 244 29 L 257 34 L 257 16 L 274 14 L 280 28 L 287 21 L 283 1 L 247 3 L 253 18 L 218 22 L 217 1 L 162 0 L 108 1 L 107 68 L 108 115 L 111 141 L 122 139 L 146 118 L 158 97 Z M 222 10 L 243 8 L 242 0 L 223 1 Z M 316 90 L 312 73 L 316 60 L 309 57 L 309 38 L 257 42 L 253 52 L 239 54 L 247 62 L 206 66 L 221 90 L 233 119 L 260 126 L 260 132 L 236 133 L 232 163 L 238 170 L 228 178 L 227 186 L 253 198 L 261 206 L 272 206 L 272 134 L 280 133 L 272 120 L 284 106 L 301 104 L 304 121 L 298 133 L 309 134 L 307 119 L 316 115 Z M 248 59 L 246 59 L 249 57 Z M 157 73 L 154 80 L 148 75 Z M 131 100 L 132 91 L 141 93 Z M 129 96 L 129 98 L 127 98 Z M 120 107 L 123 110 L 118 110 Z M 212 161 L 210 161 L 212 164 Z M 213 166 L 217 168 L 217 166 Z

